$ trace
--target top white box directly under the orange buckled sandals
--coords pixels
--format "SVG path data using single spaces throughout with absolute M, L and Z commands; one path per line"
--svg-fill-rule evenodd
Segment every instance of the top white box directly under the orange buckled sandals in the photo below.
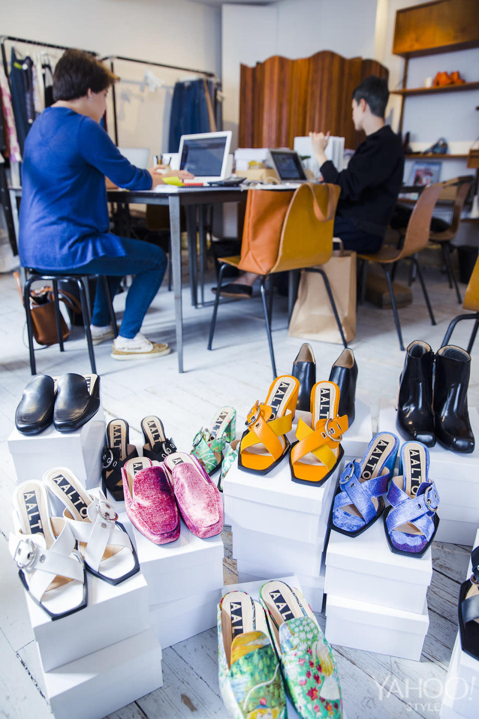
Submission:
M 233 464 L 223 481 L 231 525 L 322 545 L 340 466 L 321 487 L 313 487 L 292 482 L 287 458 L 264 477 Z

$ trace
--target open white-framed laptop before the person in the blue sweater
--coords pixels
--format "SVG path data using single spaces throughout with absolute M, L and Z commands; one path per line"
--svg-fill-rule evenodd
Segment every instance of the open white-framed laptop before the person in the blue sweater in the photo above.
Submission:
M 182 135 L 180 139 L 180 170 L 195 175 L 194 183 L 206 184 L 228 177 L 228 155 L 231 130 Z

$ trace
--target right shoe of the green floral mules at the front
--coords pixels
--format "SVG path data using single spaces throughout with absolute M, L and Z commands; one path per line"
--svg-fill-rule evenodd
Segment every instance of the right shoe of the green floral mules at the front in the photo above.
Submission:
M 284 686 L 299 716 L 341 719 L 335 656 L 302 593 L 273 580 L 261 585 L 259 599 L 281 661 Z

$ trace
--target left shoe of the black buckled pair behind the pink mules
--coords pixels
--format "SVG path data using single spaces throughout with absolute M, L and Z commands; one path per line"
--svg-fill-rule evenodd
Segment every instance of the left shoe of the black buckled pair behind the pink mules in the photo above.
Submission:
M 121 467 L 132 457 L 138 457 L 134 444 L 130 444 L 129 425 L 125 419 L 112 419 L 106 426 L 106 445 L 101 455 L 101 489 L 111 494 L 116 502 L 124 501 Z

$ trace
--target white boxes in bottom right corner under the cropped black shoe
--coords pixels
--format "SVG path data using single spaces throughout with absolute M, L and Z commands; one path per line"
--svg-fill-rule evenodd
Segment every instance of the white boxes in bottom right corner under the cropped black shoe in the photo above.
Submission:
M 474 546 L 479 545 L 479 530 Z M 472 573 L 469 563 L 468 577 Z M 465 654 L 457 633 L 442 692 L 441 719 L 476 719 L 479 705 L 479 660 Z

